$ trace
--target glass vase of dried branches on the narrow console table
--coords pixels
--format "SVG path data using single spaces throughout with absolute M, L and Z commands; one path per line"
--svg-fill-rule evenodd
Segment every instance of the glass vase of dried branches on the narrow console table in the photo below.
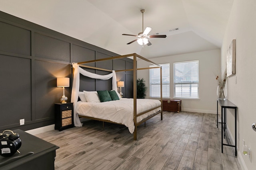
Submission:
M 226 80 L 227 80 L 227 70 L 225 69 L 220 76 L 216 76 L 218 88 L 217 88 L 217 97 L 218 99 L 226 99 L 227 89 L 226 89 Z

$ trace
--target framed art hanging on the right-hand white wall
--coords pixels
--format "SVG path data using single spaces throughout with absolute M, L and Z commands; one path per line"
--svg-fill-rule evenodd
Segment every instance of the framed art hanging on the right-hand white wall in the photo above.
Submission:
M 236 40 L 233 39 L 227 51 L 227 77 L 236 74 Z

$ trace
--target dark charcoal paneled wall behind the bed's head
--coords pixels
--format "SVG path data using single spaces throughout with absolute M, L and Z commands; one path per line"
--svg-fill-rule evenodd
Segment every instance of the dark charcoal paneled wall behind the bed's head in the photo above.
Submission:
M 100 47 L 0 12 L 0 131 L 29 130 L 54 124 L 54 103 L 62 88 L 56 77 L 70 77 L 65 95 L 70 102 L 73 62 L 117 56 Z M 109 70 L 132 68 L 131 59 L 88 64 Z M 96 74 L 109 72 L 87 69 Z M 124 97 L 132 98 L 132 72 L 118 72 L 125 82 Z M 80 90 L 111 90 L 112 79 L 94 80 L 81 76 Z M 119 90 L 119 89 L 118 89 Z M 19 120 L 25 119 L 20 126 Z

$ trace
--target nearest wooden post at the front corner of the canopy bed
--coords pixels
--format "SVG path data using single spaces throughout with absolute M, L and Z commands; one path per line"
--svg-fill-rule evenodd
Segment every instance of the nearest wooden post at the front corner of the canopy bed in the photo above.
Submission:
M 133 54 L 133 121 L 134 133 L 133 140 L 137 140 L 137 56 Z

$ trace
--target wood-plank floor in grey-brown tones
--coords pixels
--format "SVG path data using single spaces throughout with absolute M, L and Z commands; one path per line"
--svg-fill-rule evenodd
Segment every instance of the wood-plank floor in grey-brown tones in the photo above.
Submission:
M 138 127 L 87 121 L 83 127 L 36 135 L 60 147 L 57 170 L 241 170 L 234 148 L 224 146 L 216 115 L 164 111 Z

